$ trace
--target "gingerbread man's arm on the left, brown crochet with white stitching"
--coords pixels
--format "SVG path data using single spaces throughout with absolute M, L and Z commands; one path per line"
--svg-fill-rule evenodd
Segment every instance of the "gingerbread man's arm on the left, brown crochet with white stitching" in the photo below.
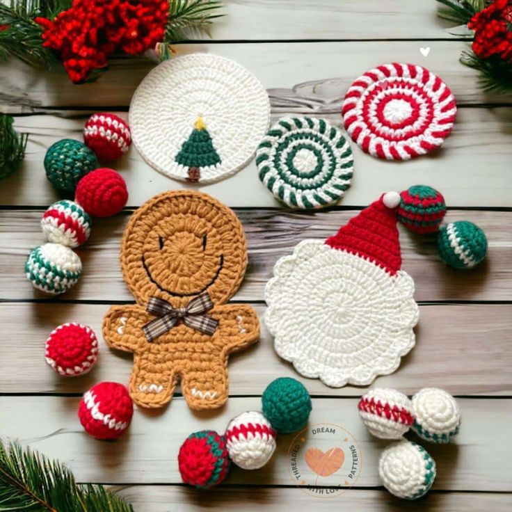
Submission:
M 150 317 L 139 305 L 113 306 L 103 319 L 103 337 L 113 349 L 142 351 L 147 344 L 142 330 Z

